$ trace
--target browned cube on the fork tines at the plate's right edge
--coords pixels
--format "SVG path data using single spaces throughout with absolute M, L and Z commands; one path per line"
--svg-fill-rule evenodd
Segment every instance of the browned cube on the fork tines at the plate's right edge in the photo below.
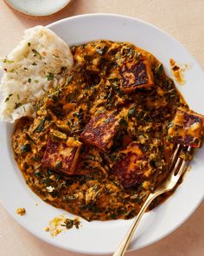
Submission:
M 168 135 L 176 143 L 193 148 L 201 148 L 204 134 L 204 116 L 195 114 L 193 111 L 178 109 Z

